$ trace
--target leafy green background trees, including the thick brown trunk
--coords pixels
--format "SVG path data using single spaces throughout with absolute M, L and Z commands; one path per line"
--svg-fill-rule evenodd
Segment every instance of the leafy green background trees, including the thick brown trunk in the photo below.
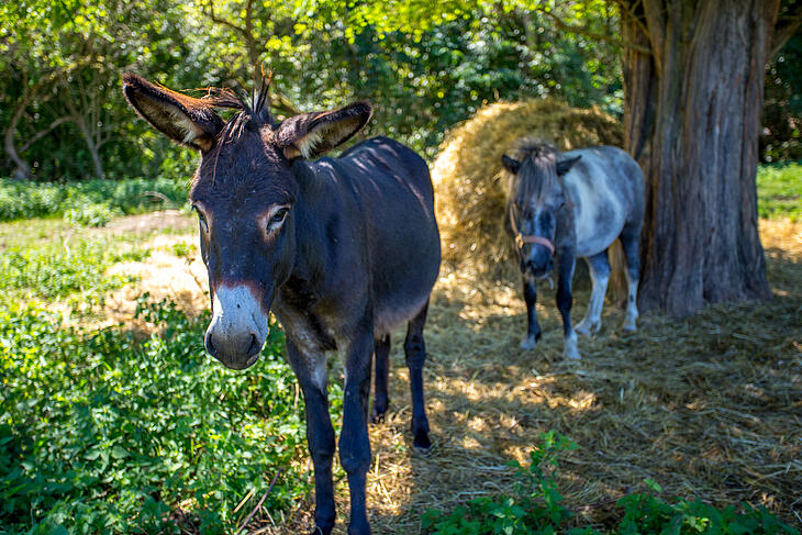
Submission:
M 623 118 L 649 181 L 642 306 L 681 316 L 769 296 L 755 169 L 802 156 L 801 18 L 793 0 L 5 2 L 0 175 L 188 176 L 194 155 L 132 120 L 126 69 L 246 90 L 264 60 L 279 115 L 369 99 L 368 134 L 430 158 L 484 101 L 557 96 Z

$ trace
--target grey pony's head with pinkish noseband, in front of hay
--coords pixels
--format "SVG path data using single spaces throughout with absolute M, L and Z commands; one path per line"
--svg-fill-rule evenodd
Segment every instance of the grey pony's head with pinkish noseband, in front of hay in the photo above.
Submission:
M 504 155 L 502 164 L 511 177 L 508 216 L 516 234 L 521 272 L 542 278 L 554 267 L 557 214 L 565 205 L 559 177 L 579 157 L 558 161 L 550 145 L 530 148 L 523 161 Z

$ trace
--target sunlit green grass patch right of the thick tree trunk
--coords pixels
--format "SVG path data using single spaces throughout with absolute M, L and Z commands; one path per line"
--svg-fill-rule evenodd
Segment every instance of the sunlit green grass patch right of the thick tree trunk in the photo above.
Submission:
M 758 167 L 757 198 L 761 218 L 802 221 L 802 163 Z

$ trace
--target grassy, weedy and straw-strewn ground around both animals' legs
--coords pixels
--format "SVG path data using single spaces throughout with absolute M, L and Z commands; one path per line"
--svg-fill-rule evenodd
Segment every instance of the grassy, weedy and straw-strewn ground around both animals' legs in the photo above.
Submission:
M 799 169 L 761 168 L 761 213 L 797 218 L 787 198 L 799 194 Z M 205 312 L 192 319 L 143 299 L 137 322 L 153 327 L 144 337 L 131 323 L 100 328 L 86 316 L 69 327 L 54 314 L 131 283 L 104 274 L 147 260 L 145 243 L 160 232 L 178 231 L 76 229 L 62 218 L 0 224 L 1 534 L 233 533 L 279 468 L 249 526 L 310 528 L 303 404 L 278 330 L 260 363 L 236 374 L 204 355 Z M 799 514 L 802 253 L 791 234 L 764 235 L 775 302 L 711 306 L 686 322 L 648 315 L 634 335 L 612 326 L 619 312 L 608 306 L 604 331 L 580 343 L 579 366 L 560 358 L 548 292 L 544 339 L 524 353 L 517 288 L 444 272 L 427 326 L 435 448 L 412 454 L 396 347 L 391 411 L 370 427 L 376 532 L 417 533 L 431 510 L 424 522 L 437 534 L 470 533 L 464 522 L 481 534 L 781 533 L 761 506 L 784 522 Z M 186 243 L 165 250 L 179 265 L 198 254 Z M 587 285 L 576 299 L 579 317 Z M 335 370 L 335 422 L 339 378 Z M 536 472 L 554 457 L 534 459 L 552 450 L 533 437 L 550 428 L 579 448 L 560 452 L 560 470 Z M 335 473 L 343 533 L 347 488 Z M 662 488 L 638 491 L 646 479 Z

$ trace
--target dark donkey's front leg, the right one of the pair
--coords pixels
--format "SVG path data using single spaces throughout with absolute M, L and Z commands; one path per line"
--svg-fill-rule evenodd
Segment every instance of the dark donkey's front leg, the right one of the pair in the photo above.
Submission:
M 368 395 L 374 335 L 370 330 L 353 336 L 345 350 L 345 399 L 339 433 L 339 461 L 348 475 L 350 523 L 348 535 L 370 533 L 365 503 L 365 484 L 370 468 Z

